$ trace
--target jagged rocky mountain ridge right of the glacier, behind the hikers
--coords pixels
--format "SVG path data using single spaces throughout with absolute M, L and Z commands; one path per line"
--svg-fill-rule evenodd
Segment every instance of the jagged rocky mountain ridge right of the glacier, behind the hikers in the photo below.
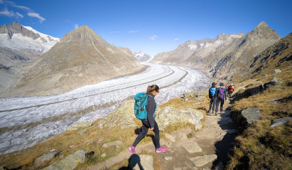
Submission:
M 208 44 L 206 39 L 196 41 L 197 44 L 206 44 L 201 49 L 194 42 L 186 42 L 171 52 L 157 54 L 151 62 L 197 68 L 206 72 L 214 81 L 228 81 L 232 80 L 234 73 L 246 71 L 247 65 L 251 64 L 249 61 L 280 38 L 275 30 L 261 22 L 246 35 L 220 34 L 212 40 L 215 42 L 213 44 Z M 182 48 L 188 43 L 193 43 L 196 51 Z

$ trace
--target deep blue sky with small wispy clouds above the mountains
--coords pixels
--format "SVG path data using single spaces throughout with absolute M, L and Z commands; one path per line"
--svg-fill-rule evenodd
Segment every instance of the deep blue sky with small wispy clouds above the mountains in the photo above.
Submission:
M 17 21 L 58 38 L 88 25 L 108 43 L 155 56 L 188 40 L 246 34 L 262 21 L 284 37 L 292 32 L 291 6 L 291 0 L 0 0 L 0 25 Z

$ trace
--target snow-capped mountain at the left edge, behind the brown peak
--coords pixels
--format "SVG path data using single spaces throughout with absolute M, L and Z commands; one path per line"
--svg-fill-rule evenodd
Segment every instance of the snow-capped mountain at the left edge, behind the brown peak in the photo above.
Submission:
M 22 77 L 23 70 L 52 48 L 60 38 L 40 33 L 18 22 L 0 26 L 0 93 Z

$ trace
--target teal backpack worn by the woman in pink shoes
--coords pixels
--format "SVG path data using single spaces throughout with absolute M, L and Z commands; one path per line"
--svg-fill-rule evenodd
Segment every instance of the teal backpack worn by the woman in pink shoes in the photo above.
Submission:
M 135 104 L 134 104 L 134 114 L 139 120 L 147 119 L 147 98 L 152 97 L 146 93 L 137 93 L 134 96 Z M 155 114 L 153 115 L 153 117 Z

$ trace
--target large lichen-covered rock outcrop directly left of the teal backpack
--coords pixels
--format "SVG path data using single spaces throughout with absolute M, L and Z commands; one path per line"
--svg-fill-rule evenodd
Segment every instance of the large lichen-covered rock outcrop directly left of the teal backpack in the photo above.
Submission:
M 121 126 L 121 128 L 138 127 L 135 124 L 134 119 L 137 119 L 134 115 L 134 100 L 124 101 L 113 112 L 104 117 L 98 122 L 99 128 Z

